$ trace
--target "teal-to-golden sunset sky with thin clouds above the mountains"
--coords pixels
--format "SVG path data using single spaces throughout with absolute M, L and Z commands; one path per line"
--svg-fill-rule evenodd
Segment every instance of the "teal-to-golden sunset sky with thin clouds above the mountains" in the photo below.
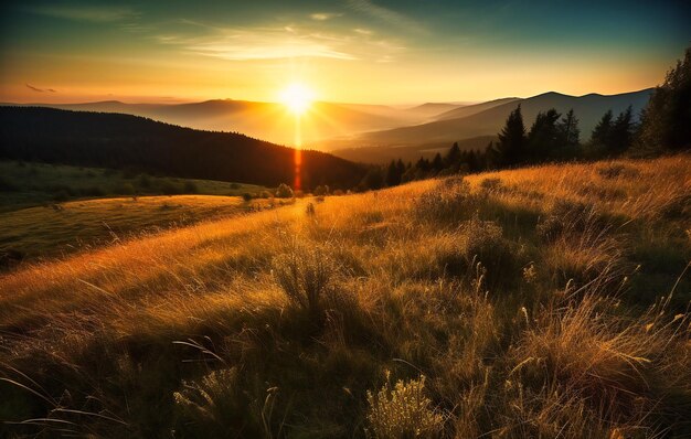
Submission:
M 0 101 L 404 105 L 655 86 L 687 1 L 8 1 Z

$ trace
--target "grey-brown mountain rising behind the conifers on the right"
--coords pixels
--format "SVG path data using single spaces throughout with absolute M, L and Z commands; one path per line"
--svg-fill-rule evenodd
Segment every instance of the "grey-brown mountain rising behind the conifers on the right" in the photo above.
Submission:
M 440 120 L 433 122 L 394 128 L 390 130 L 365 132 L 348 139 L 334 140 L 340 149 L 357 147 L 404 147 L 416 146 L 423 148 L 440 142 L 451 144 L 454 141 L 480 137 L 496 136 L 502 128 L 509 113 L 520 104 L 525 128 L 530 129 L 539 111 L 556 108 L 564 114 L 573 108 L 580 120 L 581 138 L 587 140 L 599 118 L 607 110 L 616 114 L 624 111 L 629 105 L 634 114 L 638 115 L 650 97 L 651 88 L 625 93 L 620 95 L 568 96 L 559 93 L 545 93 L 527 99 L 509 98 L 508 101 L 492 101 L 468 106 L 447 113 Z M 499 105 L 496 105 L 499 103 Z M 490 108 L 483 108 L 489 106 Z M 472 108 L 475 107 L 475 108 Z M 483 108 L 475 113 L 475 109 Z M 448 118 L 451 116 L 459 116 Z

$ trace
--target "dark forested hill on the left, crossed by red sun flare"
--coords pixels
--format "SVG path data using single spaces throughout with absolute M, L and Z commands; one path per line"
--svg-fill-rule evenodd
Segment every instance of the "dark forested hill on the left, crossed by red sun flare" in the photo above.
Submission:
M 0 107 L 0 159 L 43 161 L 264 185 L 293 183 L 295 150 L 233 132 L 200 131 L 142 117 L 43 107 Z M 301 153 L 304 188 L 352 188 L 364 169 Z

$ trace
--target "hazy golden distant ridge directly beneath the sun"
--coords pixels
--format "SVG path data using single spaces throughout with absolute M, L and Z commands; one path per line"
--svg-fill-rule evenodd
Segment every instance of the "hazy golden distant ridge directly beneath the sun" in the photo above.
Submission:
M 4 104 L 17 105 L 17 104 Z M 191 104 L 30 104 L 77 111 L 121 113 L 194 129 L 243 132 L 280 144 L 295 144 L 295 117 L 283 104 L 215 99 Z M 301 141 L 390 129 L 429 120 L 425 115 L 384 105 L 318 101 L 301 118 Z M 329 149 L 329 148 L 325 148 Z

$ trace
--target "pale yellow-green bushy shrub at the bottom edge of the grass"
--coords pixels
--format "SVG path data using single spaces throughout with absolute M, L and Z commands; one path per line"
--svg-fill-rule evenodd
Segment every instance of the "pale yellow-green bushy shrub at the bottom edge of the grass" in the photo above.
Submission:
M 444 416 L 425 396 L 425 376 L 406 383 L 398 379 L 393 388 L 390 378 L 386 372 L 384 386 L 376 394 L 368 390 L 369 436 L 375 439 L 439 437 Z

